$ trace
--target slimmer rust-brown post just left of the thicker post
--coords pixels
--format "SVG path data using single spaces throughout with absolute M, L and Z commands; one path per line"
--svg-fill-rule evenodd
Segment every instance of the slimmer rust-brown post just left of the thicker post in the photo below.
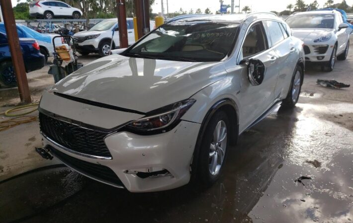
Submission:
M 127 48 L 129 43 L 127 39 L 125 0 L 116 0 L 116 5 L 118 8 L 119 46 L 120 48 Z

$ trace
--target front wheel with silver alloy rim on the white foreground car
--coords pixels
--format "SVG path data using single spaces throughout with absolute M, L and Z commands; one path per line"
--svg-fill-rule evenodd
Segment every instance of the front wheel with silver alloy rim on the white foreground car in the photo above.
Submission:
M 224 111 L 217 111 L 207 124 L 199 140 L 200 146 L 197 177 L 206 187 L 220 177 L 228 154 L 230 122 Z

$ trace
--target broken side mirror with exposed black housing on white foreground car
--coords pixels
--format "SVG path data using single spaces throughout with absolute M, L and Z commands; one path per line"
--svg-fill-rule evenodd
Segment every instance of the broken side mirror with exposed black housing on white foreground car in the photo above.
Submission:
M 248 80 L 253 86 L 260 85 L 265 78 L 265 64 L 259 59 L 247 59 Z

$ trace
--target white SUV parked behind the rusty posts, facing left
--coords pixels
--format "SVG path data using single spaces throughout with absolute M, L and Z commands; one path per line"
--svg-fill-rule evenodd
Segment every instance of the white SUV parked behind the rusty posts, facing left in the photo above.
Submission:
M 128 44 L 135 43 L 134 22 L 132 18 L 126 19 Z M 150 21 L 151 30 L 154 29 L 154 21 Z M 87 31 L 78 32 L 74 35 L 76 49 L 81 55 L 98 53 L 107 56 L 110 52 L 111 36 L 113 36 L 113 49 L 119 48 L 118 19 L 105 19 L 95 24 Z

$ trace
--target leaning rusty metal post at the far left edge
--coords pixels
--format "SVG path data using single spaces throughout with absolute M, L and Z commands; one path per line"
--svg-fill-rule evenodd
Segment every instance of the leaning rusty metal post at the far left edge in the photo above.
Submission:
M 26 69 L 24 67 L 21 46 L 19 44 L 12 4 L 10 0 L 0 0 L 0 5 L 7 34 L 7 41 L 10 47 L 12 64 L 17 79 L 19 97 L 21 102 L 31 103 L 32 100 L 29 93 Z

